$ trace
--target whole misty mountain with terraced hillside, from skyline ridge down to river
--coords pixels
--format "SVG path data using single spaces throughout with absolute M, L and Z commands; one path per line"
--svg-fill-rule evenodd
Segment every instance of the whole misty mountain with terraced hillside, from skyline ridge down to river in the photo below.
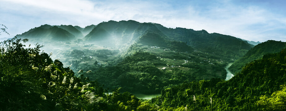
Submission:
M 133 20 L 85 28 L 45 24 L 17 37 L 43 43 L 43 50 L 75 72 L 93 71 L 75 76 L 98 80 L 105 88 L 141 93 L 158 93 L 183 81 L 225 79 L 224 66 L 254 47 L 229 35 Z

